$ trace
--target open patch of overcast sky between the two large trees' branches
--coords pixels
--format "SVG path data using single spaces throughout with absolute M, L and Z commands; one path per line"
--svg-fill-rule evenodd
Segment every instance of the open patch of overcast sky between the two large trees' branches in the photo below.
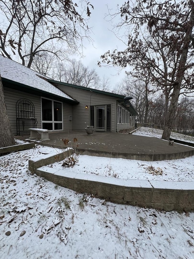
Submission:
M 99 67 L 97 63 L 100 60 L 100 56 L 106 51 L 117 47 L 119 50 L 122 50 L 126 47 L 111 31 L 112 24 L 107 21 L 110 20 L 110 18 L 105 17 L 105 15 L 108 14 L 108 8 L 111 9 L 111 13 L 116 12 L 118 2 L 120 3 L 119 7 L 124 3 L 124 1 L 118 0 L 91 0 L 94 9 L 90 8 L 91 16 L 89 19 L 89 27 L 92 27 L 91 38 L 94 42 L 93 45 L 88 42 L 84 43 L 85 49 L 83 49 L 83 52 L 85 58 L 81 59 L 85 66 L 89 66 L 90 69 L 95 68 L 100 77 L 103 75 L 108 76 L 111 80 L 112 88 L 114 88 L 115 83 L 119 82 L 125 76 L 125 72 L 122 70 L 122 72 L 118 74 L 118 69 L 112 67 Z

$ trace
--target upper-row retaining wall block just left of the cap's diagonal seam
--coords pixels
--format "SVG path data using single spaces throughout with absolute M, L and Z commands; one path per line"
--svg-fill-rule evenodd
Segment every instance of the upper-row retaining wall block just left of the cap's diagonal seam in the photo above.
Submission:
M 125 188 L 124 190 L 124 200 L 133 202 L 151 202 L 152 201 L 153 189 L 132 189 Z

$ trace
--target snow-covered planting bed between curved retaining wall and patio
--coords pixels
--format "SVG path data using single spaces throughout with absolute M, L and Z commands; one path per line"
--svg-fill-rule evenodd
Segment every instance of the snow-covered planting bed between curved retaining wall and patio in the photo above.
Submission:
M 79 162 L 74 167 L 64 168 L 62 164 L 62 161 L 55 162 L 47 167 L 119 179 L 194 181 L 194 156 L 149 162 L 80 155 Z

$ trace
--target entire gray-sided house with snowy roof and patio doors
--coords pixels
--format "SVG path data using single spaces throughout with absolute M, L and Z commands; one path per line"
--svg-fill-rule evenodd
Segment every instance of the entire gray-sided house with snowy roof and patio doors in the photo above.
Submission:
M 116 132 L 135 125 L 138 114 L 122 95 L 51 80 L 1 55 L 0 73 L 14 135 L 32 127 Z

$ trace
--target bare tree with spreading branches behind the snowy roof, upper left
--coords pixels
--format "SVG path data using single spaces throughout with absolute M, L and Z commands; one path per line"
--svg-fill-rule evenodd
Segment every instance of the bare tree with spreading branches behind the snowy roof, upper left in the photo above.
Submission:
M 85 0 L 81 3 L 90 16 L 89 6 L 93 6 Z M 84 11 L 72 0 L 1 0 L 0 10 L 5 18 L 0 30 L 1 53 L 10 59 L 16 55 L 29 68 L 42 52 L 63 59 L 67 51 L 75 53 L 85 37 L 89 39 Z

